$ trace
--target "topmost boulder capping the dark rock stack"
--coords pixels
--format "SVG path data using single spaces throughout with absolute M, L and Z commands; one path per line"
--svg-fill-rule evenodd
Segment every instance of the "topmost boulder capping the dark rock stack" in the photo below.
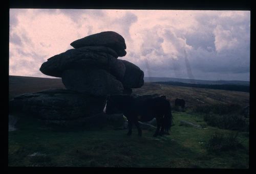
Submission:
M 78 39 L 70 44 L 74 48 L 83 46 L 108 46 L 117 53 L 119 57 L 125 56 L 126 49 L 124 38 L 116 32 L 107 31 L 93 34 L 81 39 Z

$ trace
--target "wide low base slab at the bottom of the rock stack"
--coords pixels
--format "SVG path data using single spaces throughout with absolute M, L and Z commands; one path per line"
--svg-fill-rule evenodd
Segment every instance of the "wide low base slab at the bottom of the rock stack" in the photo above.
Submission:
M 91 96 L 67 89 L 44 90 L 14 97 L 9 112 L 29 113 L 35 118 L 67 121 L 103 112 L 105 96 Z

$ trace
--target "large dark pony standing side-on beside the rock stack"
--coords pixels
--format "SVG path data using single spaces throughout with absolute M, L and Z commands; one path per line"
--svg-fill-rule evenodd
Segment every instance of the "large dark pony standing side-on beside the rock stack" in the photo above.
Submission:
M 142 131 L 138 121 L 146 122 L 154 117 L 157 120 L 154 136 L 169 134 L 168 131 L 173 121 L 170 103 L 164 96 L 145 98 L 130 95 L 108 96 L 105 112 L 106 114 L 123 113 L 128 120 L 129 132 L 127 135 L 132 134 L 132 125 L 134 124 L 138 129 L 139 136 L 141 136 Z

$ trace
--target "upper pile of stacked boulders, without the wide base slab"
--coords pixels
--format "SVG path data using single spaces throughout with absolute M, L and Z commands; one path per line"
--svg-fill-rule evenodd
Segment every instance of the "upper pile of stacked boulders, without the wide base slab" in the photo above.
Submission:
M 71 45 L 75 49 L 51 57 L 40 71 L 60 77 L 67 89 L 93 95 L 131 93 L 132 88 L 143 85 L 143 71 L 131 62 L 117 59 L 126 55 L 121 35 L 101 32 Z

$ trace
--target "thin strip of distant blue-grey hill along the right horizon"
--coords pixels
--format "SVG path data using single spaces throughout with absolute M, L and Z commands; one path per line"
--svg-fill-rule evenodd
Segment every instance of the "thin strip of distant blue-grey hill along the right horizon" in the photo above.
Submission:
M 179 79 L 179 78 L 157 78 L 157 77 L 144 77 L 145 82 L 182 82 L 191 84 L 206 84 L 206 85 L 245 85 L 249 86 L 249 81 L 210 81 L 210 80 L 196 80 L 196 79 Z

